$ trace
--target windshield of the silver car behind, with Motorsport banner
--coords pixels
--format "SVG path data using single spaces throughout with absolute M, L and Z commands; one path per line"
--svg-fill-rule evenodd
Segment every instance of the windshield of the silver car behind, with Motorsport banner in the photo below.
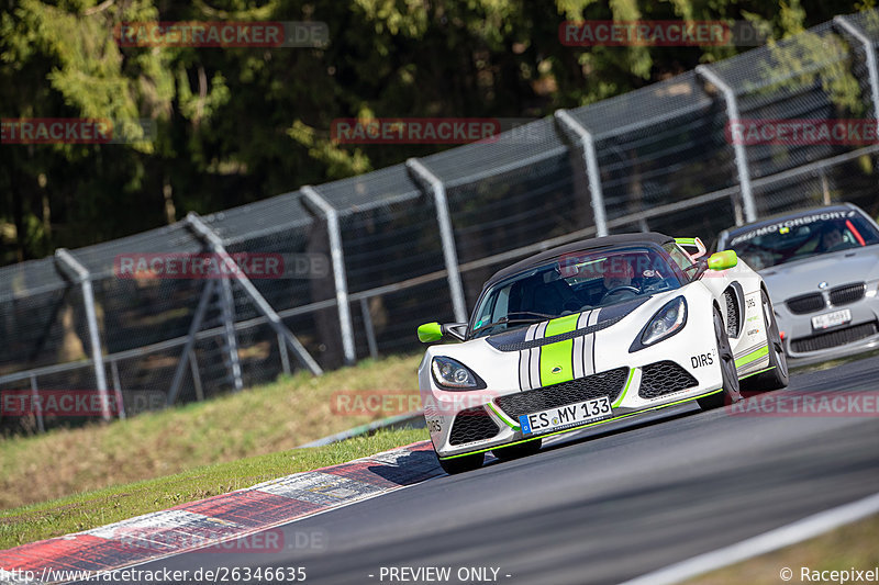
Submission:
M 727 249 L 755 270 L 849 248 L 879 244 L 879 232 L 855 211 L 787 217 L 734 232 Z

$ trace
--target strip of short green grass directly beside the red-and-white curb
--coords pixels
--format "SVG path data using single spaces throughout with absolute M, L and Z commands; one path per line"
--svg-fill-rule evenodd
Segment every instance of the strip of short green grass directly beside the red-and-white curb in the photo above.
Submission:
M 344 463 L 427 438 L 426 429 L 379 431 L 369 437 L 356 437 L 326 447 L 287 450 L 214 463 L 165 477 L 114 485 L 0 511 L 0 549 L 97 528 L 291 473 Z

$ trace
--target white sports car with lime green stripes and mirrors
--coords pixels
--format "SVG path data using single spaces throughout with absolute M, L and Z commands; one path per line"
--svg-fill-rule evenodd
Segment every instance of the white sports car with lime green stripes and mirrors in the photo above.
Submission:
M 543 437 L 689 401 L 702 408 L 787 385 L 763 279 L 699 238 L 588 239 L 486 282 L 469 323 L 419 327 L 424 417 L 448 473 L 485 453 L 536 452 Z

